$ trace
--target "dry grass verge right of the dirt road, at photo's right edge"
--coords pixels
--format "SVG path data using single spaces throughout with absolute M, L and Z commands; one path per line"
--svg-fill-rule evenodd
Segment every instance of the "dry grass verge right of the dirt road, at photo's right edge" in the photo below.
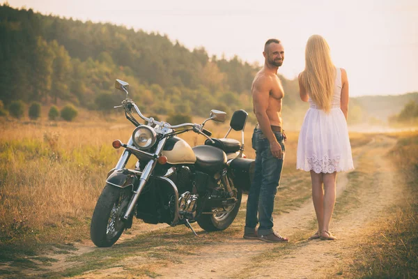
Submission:
M 399 185 L 405 185 L 399 204 L 387 210 L 364 235 L 359 235 L 355 257 L 346 259 L 330 278 L 418 278 L 418 135 L 401 133 L 390 152 Z

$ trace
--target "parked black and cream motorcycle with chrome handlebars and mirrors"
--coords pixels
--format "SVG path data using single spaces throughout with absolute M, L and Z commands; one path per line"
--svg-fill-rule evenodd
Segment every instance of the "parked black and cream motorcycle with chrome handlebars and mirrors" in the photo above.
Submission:
M 212 138 L 204 128 L 207 121 L 224 122 L 226 113 L 211 110 L 203 123 L 170 125 L 144 116 L 128 96 L 127 82 L 116 80 L 116 89 L 126 93 L 122 105 L 135 128 L 127 143 L 115 140 L 115 149 L 124 148 L 116 166 L 107 174 L 91 218 L 91 240 L 98 247 L 112 246 L 133 217 L 144 223 L 167 223 L 192 228 L 196 222 L 207 232 L 224 230 L 240 209 L 242 193 L 249 190 L 254 160 L 245 158 L 244 128 L 247 112 L 231 117 L 224 138 Z M 134 117 L 146 121 L 141 124 Z M 242 142 L 227 138 L 231 130 L 241 131 Z M 206 137 L 193 148 L 178 137 L 192 131 Z M 127 169 L 130 156 L 138 161 Z

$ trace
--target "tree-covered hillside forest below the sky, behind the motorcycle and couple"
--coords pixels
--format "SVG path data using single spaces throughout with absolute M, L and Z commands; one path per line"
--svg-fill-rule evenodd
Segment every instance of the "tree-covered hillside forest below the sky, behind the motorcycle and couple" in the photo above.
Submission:
M 22 100 L 109 112 L 125 97 L 114 89 L 120 79 L 130 84 L 130 98 L 148 115 L 251 112 L 251 82 L 259 68 L 238 56 L 210 57 L 204 47 L 189 50 L 165 34 L 0 6 L 0 100 L 5 107 Z M 286 93 L 284 119 L 288 126 L 299 126 L 308 106 L 300 101 L 297 80 L 279 77 Z M 351 98 L 348 123 L 387 122 L 417 96 L 396 96 L 395 102 L 378 97 L 380 105 L 369 96 Z M 381 110 L 381 103 L 390 110 Z

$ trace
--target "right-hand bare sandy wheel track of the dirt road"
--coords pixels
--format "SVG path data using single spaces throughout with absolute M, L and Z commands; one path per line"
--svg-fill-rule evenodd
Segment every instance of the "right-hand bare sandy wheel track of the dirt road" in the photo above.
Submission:
M 247 275 L 250 278 L 323 278 L 327 269 L 351 257 L 363 227 L 384 214 L 385 208 L 396 202 L 394 197 L 401 196 L 402 189 L 395 183 L 394 167 L 385 158 L 387 150 L 394 144 L 395 141 L 388 137 L 378 137 L 366 147 L 368 150 L 362 156 L 368 158 L 373 166 L 373 187 L 365 186 L 359 191 L 357 199 L 361 206 L 341 220 L 332 222 L 332 232 L 338 236 L 338 241 L 309 241 L 308 245 L 266 262 L 265 267 L 251 270 Z

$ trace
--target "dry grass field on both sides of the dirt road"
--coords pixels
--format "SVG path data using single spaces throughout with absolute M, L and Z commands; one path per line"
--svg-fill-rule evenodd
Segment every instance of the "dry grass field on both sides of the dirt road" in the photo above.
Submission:
M 122 115 L 84 112 L 73 123 L 3 119 L 0 128 L 0 263 L 18 263 L 51 246 L 68 245 L 71 249 L 71 243 L 88 240 L 95 202 L 107 172 L 121 155 L 121 150 L 113 149 L 111 142 L 116 139 L 126 142 L 133 126 Z M 214 137 L 223 137 L 228 124 L 209 122 L 207 128 Z M 248 124 L 245 133 L 248 158 L 254 158 L 252 128 Z M 297 132 L 287 133 L 286 179 L 282 179 L 277 193 L 277 214 L 297 208 L 311 198 L 309 175 L 301 175 L 295 169 L 297 135 Z M 418 135 L 390 136 L 398 144 L 389 155 L 398 166 L 402 183 L 408 185 L 408 194 L 401 205 L 388 212 L 385 220 L 376 220 L 377 229 L 371 229 L 370 236 L 358 247 L 357 257 L 341 266 L 341 272 L 355 278 L 392 277 L 401 271 L 417 269 Z M 205 140 L 194 133 L 182 137 L 191 146 Z M 240 140 L 238 133 L 231 137 Z M 350 140 L 355 149 L 367 144 L 370 137 L 351 133 Z M 134 165 L 134 160 L 131 159 L 130 165 Z M 232 232 L 240 234 L 242 222 L 241 214 L 231 226 Z M 176 229 L 172 232 L 176 234 Z M 207 239 L 202 245 L 211 241 Z M 26 264 L 30 266 L 29 262 Z

